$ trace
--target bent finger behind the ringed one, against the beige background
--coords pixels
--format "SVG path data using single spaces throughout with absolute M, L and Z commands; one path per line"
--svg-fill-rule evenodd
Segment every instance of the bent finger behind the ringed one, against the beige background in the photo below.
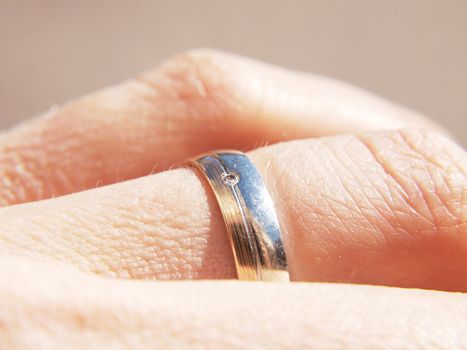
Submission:
M 147 175 L 216 148 L 410 125 L 435 127 L 343 83 L 195 51 L 3 135 L 0 204 Z

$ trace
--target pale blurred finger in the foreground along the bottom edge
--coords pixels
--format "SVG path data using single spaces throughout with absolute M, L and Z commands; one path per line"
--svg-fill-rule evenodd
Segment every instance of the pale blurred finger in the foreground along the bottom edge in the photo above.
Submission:
M 457 293 L 0 269 L 0 344 L 9 349 L 460 349 L 467 341 L 467 299 Z

